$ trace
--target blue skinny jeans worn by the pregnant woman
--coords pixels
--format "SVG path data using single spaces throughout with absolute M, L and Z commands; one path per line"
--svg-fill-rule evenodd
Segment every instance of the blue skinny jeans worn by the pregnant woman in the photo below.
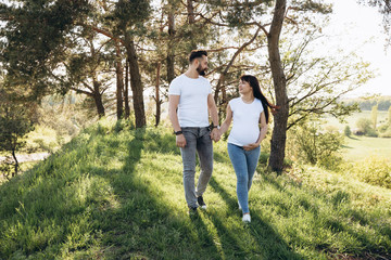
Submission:
M 237 174 L 237 195 L 243 213 L 249 210 L 249 191 L 260 158 L 261 147 L 245 151 L 243 147 L 228 143 L 228 155 Z

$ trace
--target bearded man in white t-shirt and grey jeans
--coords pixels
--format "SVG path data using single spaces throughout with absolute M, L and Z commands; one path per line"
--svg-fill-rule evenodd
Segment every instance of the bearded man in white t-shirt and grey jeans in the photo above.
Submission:
M 192 51 L 188 70 L 175 78 L 168 90 L 168 115 L 180 147 L 184 164 L 185 197 L 190 212 L 200 206 L 206 209 L 203 193 L 213 171 L 213 145 L 220 138 L 217 107 L 212 95 L 211 83 L 203 76 L 207 69 L 206 51 Z M 209 112 L 212 127 L 209 122 Z M 195 153 L 201 172 L 194 188 Z

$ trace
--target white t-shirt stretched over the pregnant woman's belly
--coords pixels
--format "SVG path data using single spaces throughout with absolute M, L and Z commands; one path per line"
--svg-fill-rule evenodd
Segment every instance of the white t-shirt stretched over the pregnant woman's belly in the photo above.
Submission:
M 241 98 L 231 100 L 229 106 L 234 114 L 234 126 L 228 136 L 228 143 L 243 146 L 255 143 L 260 136 L 260 117 L 264 110 L 258 99 L 245 104 Z

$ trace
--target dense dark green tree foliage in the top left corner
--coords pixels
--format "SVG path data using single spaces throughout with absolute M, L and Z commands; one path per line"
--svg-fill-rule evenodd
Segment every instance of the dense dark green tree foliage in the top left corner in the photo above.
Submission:
M 0 5 L 4 17 L 1 30 L 1 58 L 7 82 L 24 86 L 34 98 L 48 89 L 61 91 L 52 72 L 64 58 L 64 36 L 83 21 L 91 5 L 88 1 L 8 1 Z

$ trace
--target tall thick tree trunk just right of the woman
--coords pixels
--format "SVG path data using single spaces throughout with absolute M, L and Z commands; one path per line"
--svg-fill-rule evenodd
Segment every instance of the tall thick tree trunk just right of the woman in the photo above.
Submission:
M 283 68 L 281 66 L 281 58 L 278 47 L 286 9 L 287 0 L 276 1 L 270 31 L 267 36 L 267 48 L 276 94 L 276 103 L 278 106 L 280 106 L 279 112 L 275 115 L 274 118 L 274 129 L 272 135 L 270 158 L 268 167 L 277 172 L 281 172 L 283 169 L 283 158 L 287 140 L 287 122 L 289 115 L 287 79 L 283 73 Z

